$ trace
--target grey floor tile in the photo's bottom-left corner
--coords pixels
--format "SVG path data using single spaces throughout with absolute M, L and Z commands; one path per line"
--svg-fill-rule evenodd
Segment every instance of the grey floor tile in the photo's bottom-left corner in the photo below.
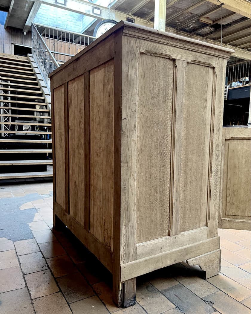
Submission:
M 0 294 L 0 314 L 34 314 L 27 288 Z

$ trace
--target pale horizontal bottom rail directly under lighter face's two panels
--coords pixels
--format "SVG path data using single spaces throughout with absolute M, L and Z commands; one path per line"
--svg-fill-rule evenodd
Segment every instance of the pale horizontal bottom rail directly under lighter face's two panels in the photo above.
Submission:
M 137 244 L 137 260 L 207 240 L 207 227 Z

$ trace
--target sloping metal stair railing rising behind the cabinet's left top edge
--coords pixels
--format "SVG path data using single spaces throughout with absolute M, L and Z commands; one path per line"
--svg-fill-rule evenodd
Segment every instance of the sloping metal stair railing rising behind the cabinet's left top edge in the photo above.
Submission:
M 49 74 L 58 68 L 59 65 L 33 23 L 31 25 L 31 41 L 32 56 L 35 59 L 47 88 L 51 90 Z

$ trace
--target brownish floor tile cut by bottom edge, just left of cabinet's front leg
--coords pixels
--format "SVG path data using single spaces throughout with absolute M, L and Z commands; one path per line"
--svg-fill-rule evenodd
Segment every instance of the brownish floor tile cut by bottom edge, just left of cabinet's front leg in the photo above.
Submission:
M 95 295 L 90 298 L 77 301 L 71 305 L 73 314 L 108 314 L 109 311 L 104 306 L 104 304 Z M 119 312 L 117 312 L 119 313 Z M 140 312 L 138 314 L 141 314 Z M 145 311 L 144 311 L 145 314 Z

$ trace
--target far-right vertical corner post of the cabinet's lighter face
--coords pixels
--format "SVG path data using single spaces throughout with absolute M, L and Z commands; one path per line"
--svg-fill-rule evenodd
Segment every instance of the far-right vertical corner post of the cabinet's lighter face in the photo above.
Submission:
M 220 188 L 221 188 L 221 166 L 222 166 L 222 121 L 223 121 L 223 103 L 224 95 L 222 90 L 225 84 L 225 73 L 222 68 L 226 68 L 226 59 L 216 59 L 215 75 L 215 98 L 214 118 L 213 118 L 213 137 L 212 152 L 211 152 L 211 171 L 210 171 L 210 198 L 209 198 L 209 213 L 207 213 L 208 237 L 213 237 L 218 234 L 218 212 L 220 210 Z

